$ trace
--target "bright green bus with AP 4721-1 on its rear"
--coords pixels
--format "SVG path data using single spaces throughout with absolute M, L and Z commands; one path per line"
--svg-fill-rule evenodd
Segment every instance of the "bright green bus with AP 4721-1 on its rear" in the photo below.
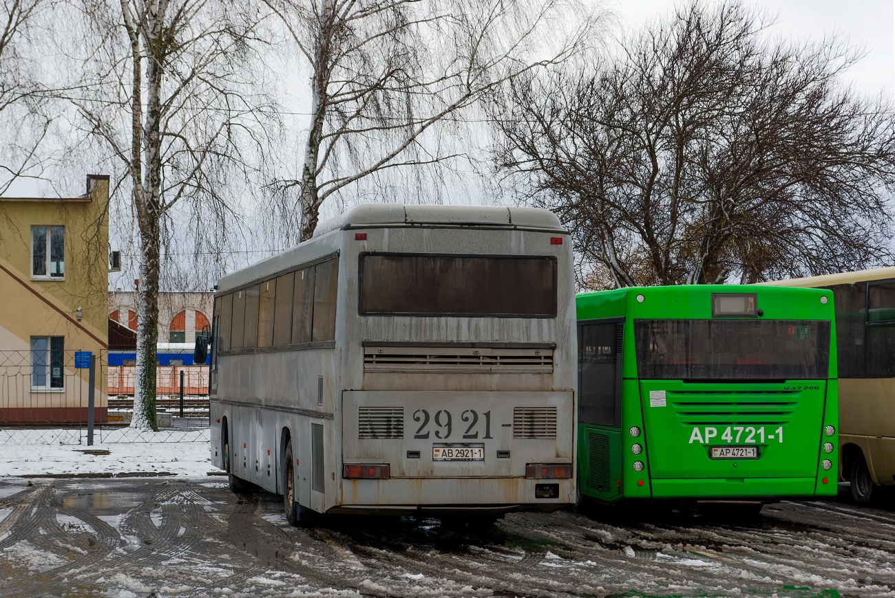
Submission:
M 578 485 L 598 501 L 837 492 L 832 291 L 580 294 Z

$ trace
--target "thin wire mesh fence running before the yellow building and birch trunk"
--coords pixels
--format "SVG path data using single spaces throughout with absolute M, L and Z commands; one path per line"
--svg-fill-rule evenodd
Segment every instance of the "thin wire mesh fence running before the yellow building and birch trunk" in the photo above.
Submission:
M 56 350 L 54 344 L 53 337 L 47 337 L 45 342 L 32 342 L 31 350 L 0 350 L 0 445 L 86 443 L 90 370 L 82 367 L 83 352 Z M 207 367 L 158 366 L 156 407 L 159 424 L 165 428 L 153 433 L 127 427 L 135 368 L 109 366 L 107 351 L 93 355 L 94 442 L 208 439 Z

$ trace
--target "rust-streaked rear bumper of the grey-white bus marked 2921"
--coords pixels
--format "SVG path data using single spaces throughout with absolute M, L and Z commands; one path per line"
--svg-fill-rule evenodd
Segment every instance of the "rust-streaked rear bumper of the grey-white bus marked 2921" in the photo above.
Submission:
M 544 486 L 551 486 L 545 488 Z M 538 498 L 544 490 L 553 497 Z M 421 510 L 556 510 L 575 503 L 575 480 L 524 477 L 343 479 L 342 510 L 410 507 Z M 537 493 L 537 494 L 536 494 Z

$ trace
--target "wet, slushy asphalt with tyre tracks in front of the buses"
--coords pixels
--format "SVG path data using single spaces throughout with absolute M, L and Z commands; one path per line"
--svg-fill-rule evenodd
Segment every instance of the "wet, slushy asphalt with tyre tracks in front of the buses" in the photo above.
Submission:
M 0 596 L 895 595 L 895 500 L 286 523 L 225 478 L 0 479 Z

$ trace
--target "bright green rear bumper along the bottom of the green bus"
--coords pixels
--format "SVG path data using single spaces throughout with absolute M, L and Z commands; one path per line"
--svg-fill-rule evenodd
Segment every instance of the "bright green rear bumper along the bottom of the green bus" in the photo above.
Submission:
M 835 476 L 831 476 L 826 484 L 829 493 L 823 492 L 825 488 L 816 477 L 653 479 L 651 484 L 654 499 L 797 498 L 837 492 Z

